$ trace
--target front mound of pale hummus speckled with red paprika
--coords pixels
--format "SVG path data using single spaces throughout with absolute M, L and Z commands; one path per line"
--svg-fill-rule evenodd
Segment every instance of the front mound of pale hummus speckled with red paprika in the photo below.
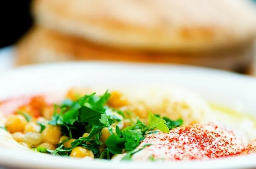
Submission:
M 152 145 L 134 154 L 134 160 L 147 160 L 148 155 L 172 161 L 219 158 L 242 152 L 246 147 L 234 131 L 213 123 L 180 126 L 170 133 L 152 133 L 146 135 L 138 148 L 146 143 Z

